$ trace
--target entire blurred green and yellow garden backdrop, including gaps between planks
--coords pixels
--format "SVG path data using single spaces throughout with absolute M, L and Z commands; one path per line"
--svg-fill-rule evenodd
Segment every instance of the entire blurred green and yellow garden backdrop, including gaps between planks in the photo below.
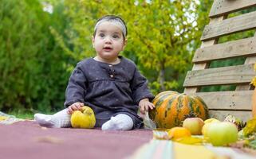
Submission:
M 0 111 L 32 117 L 36 112 L 63 109 L 69 76 L 78 61 L 95 56 L 93 28 L 105 14 L 126 21 L 128 45 L 121 55 L 137 64 L 154 95 L 165 90 L 183 92 L 183 80 L 191 70 L 195 49 L 200 47 L 212 2 L 0 0 Z M 243 13 L 230 16 L 237 14 Z M 248 31 L 219 41 L 252 35 Z M 243 62 L 233 59 L 211 65 Z

